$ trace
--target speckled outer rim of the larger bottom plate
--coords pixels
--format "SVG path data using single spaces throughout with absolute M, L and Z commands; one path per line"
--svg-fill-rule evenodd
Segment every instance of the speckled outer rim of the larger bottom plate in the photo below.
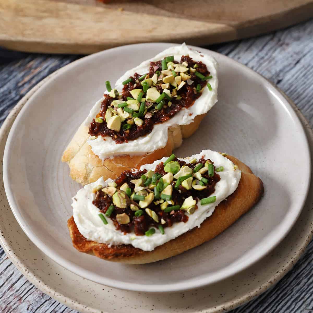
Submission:
M 76 62 L 76 61 L 74 61 L 74 62 Z M 11 125 L 13 123 L 13 122 L 11 123 L 11 120 L 13 120 L 13 121 L 15 120 L 16 115 L 22 109 L 22 107 L 27 102 L 29 97 L 31 95 L 33 95 L 33 93 L 36 90 L 38 90 L 38 88 L 41 85 L 43 85 L 47 80 L 51 79 L 58 71 L 60 71 L 62 69 L 63 68 L 58 69 L 56 72 L 54 72 L 54 73 L 50 74 L 49 76 L 47 76 L 46 78 L 44 78 L 37 85 L 35 85 L 31 90 L 29 90 L 28 93 L 21 100 L 18 101 L 17 105 L 15 105 L 13 107 L 13 109 L 11 110 L 11 112 L 9 113 L 9 115 L 7 116 L 7 118 L 3 122 L 3 125 L 0 128 L 0 140 L 1 141 L 6 141 L 7 136 L 8 136 L 8 132 L 10 131 Z M 274 84 L 272 84 L 272 85 L 274 85 Z M 278 87 L 276 87 L 276 88 L 279 90 Z M 302 126 L 305 128 L 305 131 L 307 132 L 306 135 L 310 136 L 310 140 L 313 141 L 313 130 L 310 128 L 309 122 L 306 120 L 304 115 L 301 113 L 300 109 L 293 103 L 293 101 L 290 98 L 288 98 L 281 90 L 280 90 L 280 92 L 286 98 L 286 100 L 290 103 L 292 108 L 295 110 L 295 113 L 299 117 L 299 119 L 302 123 Z M 11 123 L 11 125 L 10 125 L 10 123 Z M 1 159 L 3 159 L 3 155 L 1 155 L 0 157 L 1 157 Z M 2 174 L 1 174 L 1 178 L 2 178 Z M 2 194 L 2 197 L 6 198 L 6 195 Z M 11 211 L 10 211 L 10 213 L 11 213 Z M 17 269 L 23 274 L 24 277 L 26 277 L 31 283 L 33 283 L 39 290 L 41 290 L 45 294 L 53 297 L 54 299 L 60 301 L 64 305 L 71 307 L 72 309 L 80 310 L 81 312 L 90 312 L 90 309 L 92 309 L 93 312 L 100 313 L 100 310 L 98 310 L 98 309 L 93 309 L 91 307 L 87 307 L 86 305 L 76 301 L 75 299 L 59 293 L 56 289 L 54 289 L 53 287 L 46 284 L 44 282 L 44 279 L 42 279 L 40 276 L 36 275 L 35 271 L 33 273 L 32 270 L 30 270 L 26 265 L 24 265 L 23 259 L 18 257 L 18 255 L 15 253 L 12 245 L 6 239 L 5 233 L 2 231 L 2 228 L 1 228 L 1 223 L 2 223 L 2 219 L 0 219 L 0 244 L 3 248 L 3 250 L 5 251 L 5 253 L 7 254 L 8 258 L 17 267 Z M 297 253 L 293 254 L 292 259 L 287 259 L 286 261 L 284 261 L 284 264 L 280 266 L 280 269 L 278 269 L 278 273 L 275 273 L 274 275 L 268 277 L 268 280 L 265 283 L 261 284 L 258 288 L 254 288 L 249 293 L 242 295 L 242 296 L 239 296 L 238 298 L 234 298 L 232 300 L 229 300 L 229 301 L 225 302 L 223 305 L 219 305 L 215 308 L 208 308 L 208 312 L 213 313 L 213 312 L 218 312 L 221 310 L 224 311 L 225 309 L 230 310 L 230 309 L 233 309 L 239 305 L 242 305 L 242 304 L 246 303 L 247 301 L 252 300 L 254 297 L 260 295 L 265 290 L 269 289 L 272 286 L 272 283 L 270 283 L 270 282 L 278 281 L 283 276 L 285 276 L 287 274 L 287 272 L 290 271 L 290 269 L 299 260 L 301 254 L 305 251 L 306 246 L 309 244 L 309 242 L 312 238 L 312 234 L 313 234 L 311 231 L 313 228 L 312 222 L 310 222 L 308 227 L 310 229 L 306 232 L 305 236 L 300 237 L 301 244 L 300 244 L 299 249 L 297 249 Z M 26 236 L 26 234 L 23 234 L 23 235 Z M 60 265 L 57 264 L 57 266 L 60 266 Z M 59 279 L 61 279 L 61 277 Z

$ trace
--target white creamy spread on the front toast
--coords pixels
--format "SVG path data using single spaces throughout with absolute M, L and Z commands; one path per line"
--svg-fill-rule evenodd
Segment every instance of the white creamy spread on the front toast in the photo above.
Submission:
M 196 158 L 197 160 L 204 156 L 205 159 L 210 159 L 214 162 L 214 166 L 223 166 L 222 172 L 218 172 L 220 181 L 215 185 L 215 192 L 211 196 L 216 196 L 216 202 L 201 205 L 200 201 L 197 202 L 197 210 L 193 214 L 188 215 L 188 221 L 186 223 L 174 223 L 172 227 L 165 228 L 165 234 L 162 235 L 158 229 L 150 236 L 136 236 L 132 233 L 122 233 L 115 229 L 115 226 L 110 218 L 107 218 L 108 224 L 104 224 L 99 218 L 99 209 L 92 204 L 95 199 L 95 193 L 92 192 L 93 188 L 98 185 L 106 187 L 111 179 L 104 180 L 102 177 L 96 182 L 86 185 L 80 189 L 77 194 L 72 198 L 73 203 L 73 216 L 80 233 L 88 240 L 96 241 L 98 243 L 104 243 L 109 245 L 118 244 L 131 244 L 135 248 L 142 249 L 144 251 L 152 251 L 157 246 L 165 244 L 179 235 L 186 233 L 188 230 L 194 227 L 200 227 L 201 223 L 212 215 L 214 209 L 225 198 L 231 195 L 237 188 L 239 180 L 241 178 L 241 171 L 234 166 L 233 162 L 222 156 L 219 152 L 211 150 L 203 150 L 199 154 L 187 158 L 179 158 L 187 163 L 189 160 Z M 146 164 L 140 167 L 140 170 L 154 170 L 156 165 L 160 162 L 165 162 L 166 157 L 161 160 L 157 160 L 152 164 Z

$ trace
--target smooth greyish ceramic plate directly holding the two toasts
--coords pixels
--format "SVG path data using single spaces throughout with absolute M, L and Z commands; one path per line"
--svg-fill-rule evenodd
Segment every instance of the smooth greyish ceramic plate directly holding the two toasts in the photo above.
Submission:
M 18 223 L 50 258 L 100 284 L 162 292 L 225 279 L 256 262 L 285 237 L 307 195 L 308 143 L 288 101 L 247 67 L 196 48 L 212 54 L 220 64 L 219 102 L 175 153 L 188 156 L 210 148 L 238 157 L 262 178 L 262 201 L 217 238 L 155 264 L 115 264 L 72 247 L 66 220 L 71 216 L 71 197 L 80 186 L 60 162 L 62 152 L 101 97 L 105 80 L 115 81 L 126 69 L 169 46 L 124 46 L 70 64 L 31 96 L 8 136 L 3 177 Z M 301 175 L 293 175 L 295 171 Z

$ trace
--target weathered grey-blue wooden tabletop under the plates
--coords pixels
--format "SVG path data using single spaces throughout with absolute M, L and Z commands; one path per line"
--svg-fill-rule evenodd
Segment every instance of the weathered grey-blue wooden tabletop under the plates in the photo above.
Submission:
M 206 48 L 228 55 L 264 75 L 295 102 L 313 126 L 313 20 L 265 36 Z M 0 49 L 0 123 L 28 90 L 78 58 Z M 295 267 L 274 288 L 232 312 L 313 312 L 312 252 L 311 242 Z M 0 312 L 76 311 L 38 290 L 0 248 Z

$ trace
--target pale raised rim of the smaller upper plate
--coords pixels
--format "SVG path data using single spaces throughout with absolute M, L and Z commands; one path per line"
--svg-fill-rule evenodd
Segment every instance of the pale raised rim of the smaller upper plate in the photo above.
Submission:
M 151 43 L 149 45 L 151 45 L 151 46 L 153 46 L 153 45 L 159 46 L 160 44 L 167 45 L 167 46 L 172 45 L 171 43 Z M 122 46 L 122 47 L 117 47 L 117 48 L 110 49 L 110 51 L 112 51 L 112 50 L 122 50 L 122 49 L 125 49 L 125 48 L 127 49 L 128 47 L 138 46 L 138 45 L 139 46 L 140 45 L 145 45 L 146 46 L 147 44 L 127 45 L 127 46 Z M 173 45 L 177 45 L 177 44 L 173 44 Z M 195 46 L 190 46 L 190 47 L 192 47 L 194 49 L 200 49 L 200 50 L 208 51 L 208 49 L 205 49 L 205 48 L 200 48 L 200 47 L 195 47 Z M 53 74 L 55 74 L 55 75 L 62 74 L 62 72 L 65 72 L 67 69 L 73 68 L 75 66 L 74 63 L 83 63 L 84 61 L 82 61 L 82 60 L 84 60 L 84 59 L 93 59 L 93 58 L 96 59 L 98 54 L 103 54 L 103 53 L 105 53 L 107 51 L 108 50 L 99 52 L 97 54 L 92 54 L 92 55 L 86 56 L 86 57 L 81 58 L 81 59 L 78 59 L 78 60 L 76 60 L 76 61 L 74 61 L 74 62 L 64 66 L 63 68 L 59 69 L 58 71 L 54 72 Z M 306 144 L 305 148 L 307 149 L 307 153 L 308 153 L 307 156 L 309 158 L 308 161 L 309 161 L 309 167 L 310 167 L 310 165 L 311 165 L 311 162 L 310 162 L 310 149 L 309 149 L 308 139 L 307 139 L 306 134 L 305 134 L 305 130 L 303 128 L 303 125 L 302 125 L 298 115 L 295 114 L 294 110 L 292 110 L 292 105 L 290 105 L 290 102 L 281 93 L 281 91 L 277 87 L 275 87 L 275 85 L 271 84 L 267 79 L 265 79 L 262 75 L 260 75 L 259 73 L 255 72 L 254 70 L 248 68 L 244 64 L 241 64 L 241 63 L 239 63 L 239 62 L 229 58 L 228 56 L 225 56 L 223 54 L 219 54 L 219 53 L 214 52 L 214 51 L 209 51 L 209 53 L 212 53 L 213 55 L 214 54 L 215 55 L 219 55 L 222 58 L 226 58 L 230 62 L 233 62 L 233 63 L 237 64 L 244 71 L 248 71 L 250 74 L 254 75 L 254 77 L 256 77 L 259 80 L 261 80 L 261 83 L 263 83 L 264 85 L 269 83 L 269 85 L 271 87 L 273 87 L 275 89 L 275 91 L 277 91 L 277 93 L 279 95 L 282 96 L 282 98 L 285 100 L 285 104 L 286 104 L 285 108 L 289 112 L 292 112 L 292 114 L 294 114 L 294 118 L 292 117 L 293 121 L 298 123 L 299 124 L 298 126 L 300 126 L 300 128 L 303 131 L 303 133 L 301 133 L 301 136 L 304 135 L 304 138 L 305 138 L 305 144 Z M 45 82 L 46 81 L 44 81 L 40 86 L 38 86 L 38 89 L 40 89 L 40 87 L 44 88 Z M 35 90 L 34 93 L 37 90 Z M 21 108 L 21 112 L 23 112 L 23 110 L 27 110 L 27 103 L 28 103 L 29 98 L 25 101 L 25 103 L 23 105 L 23 109 Z M 21 118 L 21 116 L 22 115 L 19 115 L 20 118 Z M 106 278 L 103 278 L 103 277 L 101 278 L 101 280 L 96 280 L 95 278 L 90 278 L 90 273 L 88 273 L 88 271 L 86 271 L 85 269 L 81 268 L 80 266 L 73 265 L 70 261 L 67 261 L 67 260 L 63 259 L 63 257 L 61 255 L 59 255 L 58 253 L 55 253 L 52 249 L 46 247 L 43 242 L 41 242 L 40 240 L 38 241 L 38 239 L 35 238 L 36 236 L 32 233 L 30 228 L 28 228 L 28 227 L 23 225 L 23 223 L 22 223 L 23 220 L 20 219 L 18 212 L 16 212 L 13 209 L 13 207 L 15 206 L 13 204 L 14 203 L 13 196 L 12 196 L 12 194 L 10 194 L 8 192 L 11 188 L 9 186 L 9 182 L 8 182 L 8 179 L 7 179 L 7 177 L 8 177 L 8 167 L 6 166 L 7 160 L 8 160 L 8 153 L 9 153 L 9 148 L 8 147 L 9 147 L 10 142 L 11 142 L 10 139 L 13 136 L 13 131 L 14 131 L 15 127 L 17 126 L 17 124 L 18 124 L 17 121 L 13 122 L 13 125 L 11 127 L 11 130 L 9 132 L 9 136 L 8 136 L 8 139 L 7 139 L 7 142 L 6 142 L 6 146 L 5 146 L 5 150 L 4 150 L 4 157 L 3 157 L 3 180 L 4 180 L 4 186 L 5 186 L 8 202 L 10 204 L 10 207 L 11 207 L 11 209 L 13 211 L 13 214 L 14 214 L 16 220 L 18 221 L 20 227 L 27 234 L 28 238 L 33 242 L 33 244 L 35 244 L 38 247 L 38 249 L 40 249 L 49 258 L 54 259 L 61 266 L 65 267 L 66 269 L 69 269 L 71 272 L 79 273 L 79 275 L 81 277 L 85 278 L 85 279 L 92 279 L 92 280 L 94 280 L 95 282 L 97 282 L 99 284 L 105 284 L 105 285 L 109 285 L 109 286 L 114 287 L 114 288 L 120 288 L 121 289 L 121 281 L 116 281 L 116 280 L 112 280 L 112 279 L 106 279 Z M 299 215 L 300 215 L 300 213 L 302 211 L 302 208 L 303 208 L 303 206 L 305 204 L 305 201 L 306 201 L 306 198 L 307 198 L 307 194 L 308 194 L 308 191 L 309 191 L 309 187 L 310 187 L 310 183 L 309 182 L 310 182 L 310 175 L 308 177 L 308 184 L 306 186 L 305 196 L 303 197 L 303 199 L 301 201 L 301 204 L 300 204 L 300 209 L 298 210 L 298 212 L 296 214 L 294 214 L 292 221 L 285 220 L 285 222 L 284 222 L 285 228 L 282 228 L 282 229 L 280 228 L 279 229 L 279 234 L 280 235 L 276 236 L 274 239 L 272 239 L 271 240 L 272 244 L 270 246 L 266 247 L 266 248 L 263 248 L 262 249 L 262 253 L 256 254 L 255 257 L 250 258 L 249 262 L 245 262 L 245 263 L 236 265 L 235 268 L 234 267 L 231 267 L 231 268 L 227 268 L 226 267 L 226 269 L 219 270 L 220 273 L 218 273 L 218 275 L 217 274 L 215 274 L 215 276 L 214 276 L 214 274 L 211 275 L 211 276 L 213 276 L 213 279 L 211 278 L 209 282 L 208 282 L 208 278 L 207 277 L 203 277 L 201 279 L 198 279 L 195 282 L 186 281 L 185 284 L 183 285 L 183 287 L 181 286 L 182 283 L 172 283 L 170 285 L 167 285 L 167 292 L 176 292 L 176 291 L 190 290 L 190 289 L 194 289 L 194 288 L 200 288 L 200 287 L 203 287 L 205 285 L 213 284 L 215 282 L 224 280 L 224 279 L 226 279 L 226 278 L 228 278 L 228 277 L 230 277 L 232 275 L 238 274 L 240 271 L 248 268 L 252 264 L 254 264 L 257 261 L 259 261 L 261 258 L 263 258 L 266 254 L 268 254 L 272 249 L 274 249 L 285 238 L 285 236 L 289 233 L 290 229 L 295 224 L 295 222 L 296 222 L 297 218 L 299 217 Z M 139 285 L 139 284 L 136 284 L 136 283 L 135 284 L 134 283 L 123 283 L 123 287 L 122 288 L 125 289 L 125 290 L 142 291 L 142 292 L 162 292 L 162 291 L 164 291 L 164 288 L 162 288 L 161 285 L 158 285 L 157 287 L 155 287 L 154 285 L 144 285 L 144 286 L 142 286 L 142 285 Z

